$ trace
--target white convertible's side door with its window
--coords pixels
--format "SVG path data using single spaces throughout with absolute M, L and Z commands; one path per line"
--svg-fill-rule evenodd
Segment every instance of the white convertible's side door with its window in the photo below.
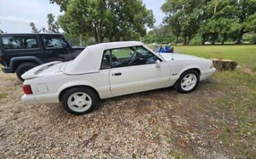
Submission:
M 116 48 L 111 50 L 109 80 L 113 96 L 163 88 L 170 80 L 170 66 L 143 46 Z

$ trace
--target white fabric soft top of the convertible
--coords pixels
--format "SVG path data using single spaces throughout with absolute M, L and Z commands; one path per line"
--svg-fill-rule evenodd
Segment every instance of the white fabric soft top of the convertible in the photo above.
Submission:
M 100 69 L 104 50 L 142 45 L 143 43 L 139 41 L 122 41 L 87 46 L 80 55 L 66 65 L 64 73 L 68 75 L 95 73 Z

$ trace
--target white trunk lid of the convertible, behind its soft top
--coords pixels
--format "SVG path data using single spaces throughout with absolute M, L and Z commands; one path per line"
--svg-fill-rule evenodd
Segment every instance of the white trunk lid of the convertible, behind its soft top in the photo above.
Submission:
M 61 73 L 68 62 L 49 62 L 42 64 L 21 75 L 23 79 L 32 79 Z

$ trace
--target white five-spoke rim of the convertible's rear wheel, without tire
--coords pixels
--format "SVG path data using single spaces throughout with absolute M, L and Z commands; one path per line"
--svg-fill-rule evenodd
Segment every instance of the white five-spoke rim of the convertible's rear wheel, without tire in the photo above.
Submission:
M 83 92 L 77 92 L 68 97 L 67 104 L 72 111 L 84 112 L 90 109 L 92 100 L 90 95 Z

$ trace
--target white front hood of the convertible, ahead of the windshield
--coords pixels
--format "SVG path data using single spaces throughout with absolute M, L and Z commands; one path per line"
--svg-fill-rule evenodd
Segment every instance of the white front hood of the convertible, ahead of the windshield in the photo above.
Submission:
M 179 54 L 179 53 L 160 53 L 160 55 L 167 61 L 184 60 L 184 59 L 203 59 L 201 57 L 196 57 L 196 56 L 192 56 L 192 55 L 184 55 L 184 54 Z

